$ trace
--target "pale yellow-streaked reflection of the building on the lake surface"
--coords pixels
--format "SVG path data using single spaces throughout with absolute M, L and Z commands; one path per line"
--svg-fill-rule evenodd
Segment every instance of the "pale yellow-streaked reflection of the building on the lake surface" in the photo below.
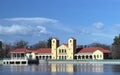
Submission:
M 11 72 L 104 72 L 106 69 L 103 64 L 40 64 L 6 67 Z

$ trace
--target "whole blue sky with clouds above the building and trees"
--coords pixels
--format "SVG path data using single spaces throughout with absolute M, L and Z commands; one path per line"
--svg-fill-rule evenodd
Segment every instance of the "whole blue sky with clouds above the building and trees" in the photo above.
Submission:
M 0 0 L 0 40 L 57 37 L 112 44 L 120 33 L 120 0 Z

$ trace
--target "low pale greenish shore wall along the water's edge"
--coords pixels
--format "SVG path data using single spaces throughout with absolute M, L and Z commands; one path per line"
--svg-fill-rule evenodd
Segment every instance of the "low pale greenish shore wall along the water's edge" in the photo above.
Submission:
M 0 65 L 4 60 L 0 60 Z M 120 64 L 118 60 L 39 60 L 39 64 Z

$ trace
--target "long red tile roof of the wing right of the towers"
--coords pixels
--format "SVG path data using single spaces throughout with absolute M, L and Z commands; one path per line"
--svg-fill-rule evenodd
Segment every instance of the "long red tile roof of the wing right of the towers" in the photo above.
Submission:
M 90 48 L 83 48 L 82 50 L 80 50 L 80 53 L 88 53 L 88 52 L 94 52 L 96 50 L 100 50 L 103 53 L 110 53 L 110 50 L 105 50 L 103 48 L 100 47 L 90 47 Z

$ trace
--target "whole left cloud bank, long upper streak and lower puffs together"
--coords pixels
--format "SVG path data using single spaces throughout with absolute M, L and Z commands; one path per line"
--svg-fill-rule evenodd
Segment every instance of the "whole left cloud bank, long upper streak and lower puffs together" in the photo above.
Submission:
M 59 31 L 74 33 L 72 28 L 65 27 L 56 19 L 30 17 L 1 19 L 0 35 L 41 36 L 58 34 Z

